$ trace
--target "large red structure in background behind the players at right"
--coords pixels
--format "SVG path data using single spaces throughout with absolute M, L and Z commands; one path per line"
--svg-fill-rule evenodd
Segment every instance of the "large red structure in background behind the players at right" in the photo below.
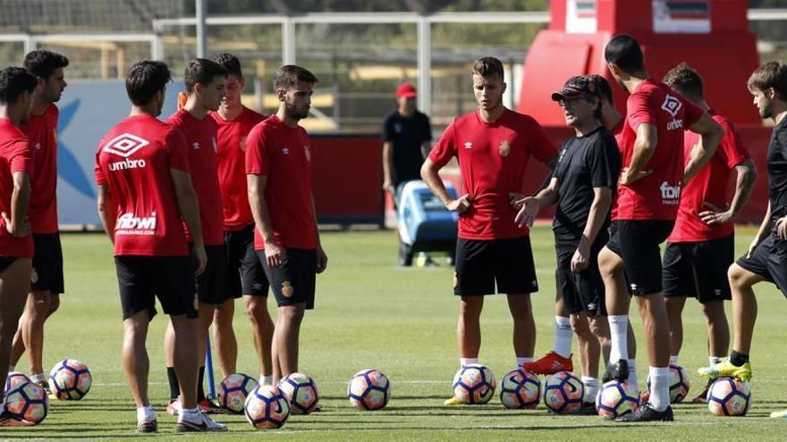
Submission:
M 758 222 L 767 205 L 769 129 L 746 88 L 758 64 L 747 7 L 745 0 L 552 0 L 549 28 L 538 33 L 524 63 L 517 110 L 535 117 L 560 142 L 571 131 L 565 131 L 551 92 L 572 75 L 611 79 L 605 45 L 615 34 L 631 34 L 642 45 L 651 76 L 661 79 L 676 64 L 689 63 L 703 76 L 708 104 L 740 129 L 760 179 L 739 221 Z M 623 111 L 627 95 L 616 86 L 613 91 L 615 105 Z M 546 173 L 536 164 L 531 170 Z

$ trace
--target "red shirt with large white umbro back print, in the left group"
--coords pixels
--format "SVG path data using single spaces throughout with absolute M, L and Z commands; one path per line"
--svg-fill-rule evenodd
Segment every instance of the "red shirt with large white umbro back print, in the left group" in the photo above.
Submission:
M 189 171 L 180 130 L 152 115 L 109 129 L 96 151 L 96 183 L 109 188 L 117 211 L 114 255 L 189 254 L 170 170 Z

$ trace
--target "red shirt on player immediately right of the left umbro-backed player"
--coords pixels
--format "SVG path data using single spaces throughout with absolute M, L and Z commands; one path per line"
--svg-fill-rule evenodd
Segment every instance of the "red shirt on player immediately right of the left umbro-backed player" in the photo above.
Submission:
M 222 228 L 222 199 L 216 174 L 216 121 L 207 115 L 198 120 L 189 111 L 181 109 L 173 113 L 166 121 L 173 128 L 179 129 L 186 139 L 186 150 L 189 152 L 189 169 L 191 184 L 199 202 L 199 222 L 202 225 L 202 238 L 206 246 L 224 244 Z M 192 241 L 189 229 L 186 239 Z

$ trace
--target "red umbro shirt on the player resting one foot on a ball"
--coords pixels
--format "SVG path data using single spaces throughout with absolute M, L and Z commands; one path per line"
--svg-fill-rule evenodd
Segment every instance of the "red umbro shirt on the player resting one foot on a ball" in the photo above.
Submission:
M 654 79 L 639 83 L 626 101 L 626 123 L 616 137 L 622 167 L 629 167 L 640 124 L 656 126 L 657 145 L 643 171 L 653 171 L 630 186 L 618 186 L 613 220 L 674 221 L 683 179 L 683 130 L 702 117 L 703 111 Z

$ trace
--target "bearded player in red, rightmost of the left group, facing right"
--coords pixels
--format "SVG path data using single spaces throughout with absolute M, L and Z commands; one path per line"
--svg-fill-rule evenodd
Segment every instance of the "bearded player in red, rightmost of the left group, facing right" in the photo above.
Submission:
M 275 115 L 251 129 L 246 145 L 254 248 L 276 296 L 274 383 L 298 371 L 300 323 L 314 308 L 315 276 L 328 258 L 320 245 L 311 192 L 311 147 L 298 121 L 309 116 L 317 78 L 294 65 L 276 72 Z

